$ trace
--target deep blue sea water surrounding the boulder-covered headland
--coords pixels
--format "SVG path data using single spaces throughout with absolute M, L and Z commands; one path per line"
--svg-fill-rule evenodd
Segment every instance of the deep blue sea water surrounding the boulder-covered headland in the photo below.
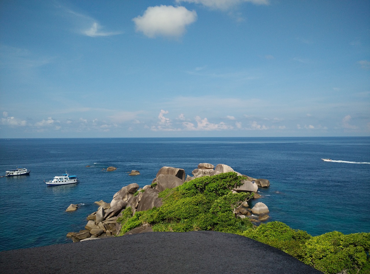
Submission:
M 270 180 L 259 189 L 270 219 L 312 236 L 329 231 L 370 232 L 369 137 L 326 138 L 81 138 L 0 139 L 0 175 L 16 166 L 29 176 L 0 178 L 0 251 L 71 242 L 84 229 L 95 201 L 110 202 L 130 183 L 151 184 L 162 166 L 223 163 L 242 174 Z M 85 166 L 91 167 L 86 168 Z M 115 166 L 117 170 L 102 170 Z M 131 170 L 140 175 L 129 176 Z M 80 183 L 48 187 L 68 171 Z M 75 212 L 71 204 L 84 203 Z

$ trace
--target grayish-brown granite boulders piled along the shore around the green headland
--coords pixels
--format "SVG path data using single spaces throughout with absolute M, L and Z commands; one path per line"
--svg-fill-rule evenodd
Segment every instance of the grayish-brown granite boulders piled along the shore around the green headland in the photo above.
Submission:
M 113 169 L 114 170 L 114 169 Z M 131 207 L 132 213 L 160 207 L 162 199 L 158 197 L 159 192 L 182 185 L 184 182 L 193 180 L 202 176 L 214 176 L 226 172 L 236 172 L 230 166 L 218 164 L 216 167 L 210 163 L 199 163 L 198 167 L 192 171 L 192 175 L 185 174 L 185 170 L 181 168 L 173 168 L 164 166 L 159 169 L 157 175 L 152 180 L 151 185 L 146 185 L 139 188 L 137 183 L 132 183 L 122 187 L 113 195 L 110 203 L 100 200 L 95 202 L 98 205 L 97 211 L 87 216 L 87 224 L 85 229 L 78 232 L 69 232 L 67 237 L 70 237 L 73 242 L 96 240 L 108 237 L 115 237 L 120 234 L 121 225 L 117 223 L 117 218 L 122 216 L 122 210 Z M 233 189 L 234 193 L 249 192 L 254 193 L 253 199 L 258 199 L 261 196 L 257 193 L 258 187 L 269 187 L 270 182 L 267 179 L 255 179 L 247 175 L 238 175 L 245 177 L 243 185 Z M 132 170 L 129 175 L 139 174 L 138 170 Z M 78 208 L 77 204 L 71 204 L 66 211 L 74 211 Z M 249 218 L 254 224 L 265 221 L 269 218 L 269 209 L 264 203 L 256 203 L 253 208 L 249 207 L 247 202 L 234 210 L 235 216 L 240 218 Z M 153 231 L 149 224 L 144 224 L 141 227 L 136 227 L 125 233 L 138 234 Z M 121 236 L 121 235 L 120 235 Z

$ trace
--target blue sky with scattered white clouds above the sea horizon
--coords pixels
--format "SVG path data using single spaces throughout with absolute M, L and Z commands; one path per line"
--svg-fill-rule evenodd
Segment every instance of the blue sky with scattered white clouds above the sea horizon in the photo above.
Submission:
M 369 136 L 370 1 L 0 2 L 0 138 Z

